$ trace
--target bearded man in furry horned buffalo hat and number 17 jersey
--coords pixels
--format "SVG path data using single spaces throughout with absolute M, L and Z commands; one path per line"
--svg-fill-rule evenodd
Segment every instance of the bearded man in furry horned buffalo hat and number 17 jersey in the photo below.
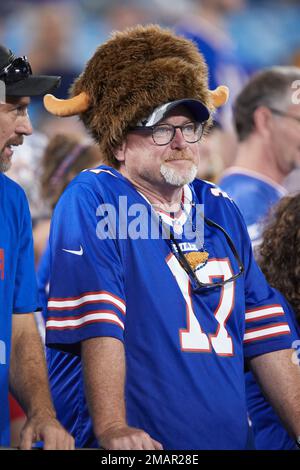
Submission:
M 234 203 L 194 180 L 226 98 L 196 47 L 153 25 L 100 46 L 70 99 L 45 97 L 104 161 L 69 185 L 50 237 L 50 380 L 77 446 L 247 448 L 244 359 L 300 435 L 284 310 Z

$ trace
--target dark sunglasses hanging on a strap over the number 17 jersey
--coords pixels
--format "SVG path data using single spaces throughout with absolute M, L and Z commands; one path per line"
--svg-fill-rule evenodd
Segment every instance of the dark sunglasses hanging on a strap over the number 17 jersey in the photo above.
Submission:
M 176 251 L 175 250 L 172 250 L 172 251 L 175 254 L 175 256 L 177 257 L 177 259 L 178 259 L 179 263 L 181 264 L 181 266 L 183 267 L 183 269 L 189 275 L 190 280 L 191 280 L 192 292 L 194 292 L 194 293 L 198 293 L 202 289 L 215 289 L 216 287 L 222 287 L 225 284 L 228 284 L 228 282 L 235 281 L 238 277 L 240 277 L 243 274 L 243 272 L 245 270 L 243 262 L 242 262 L 241 258 L 239 257 L 239 254 L 237 252 L 237 249 L 234 246 L 234 243 L 233 243 L 232 239 L 230 238 L 230 236 L 228 235 L 228 233 L 226 232 L 226 230 L 223 227 L 221 227 L 221 225 L 217 224 L 216 222 L 213 222 L 211 219 L 208 219 L 207 217 L 203 217 L 203 218 L 204 218 L 204 222 L 207 225 L 220 230 L 223 233 L 223 235 L 225 236 L 226 241 L 229 245 L 229 248 L 231 249 L 231 251 L 233 253 L 233 256 L 234 256 L 234 258 L 235 258 L 235 260 L 238 264 L 238 272 L 236 274 L 233 274 L 233 276 L 231 276 L 229 279 L 225 279 L 224 281 L 209 282 L 209 283 L 199 281 L 196 272 L 194 271 L 194 269 L 190 265 L 188 259 L 184 255 L 183 251 L 181 250 L 178 241 L 176 240 L 174 235 L 170 232 L 171 243 L 174 244 L 175 247 L 176 247 Z

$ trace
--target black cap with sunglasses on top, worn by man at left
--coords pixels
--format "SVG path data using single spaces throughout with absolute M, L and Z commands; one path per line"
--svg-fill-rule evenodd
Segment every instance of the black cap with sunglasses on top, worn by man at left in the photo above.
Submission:
M 33 75 L 26 56 L 16 57 L 0 45 L 0 80 L 5 83 L 6 96 L 38 96 L 57 88 L 61 77 Z

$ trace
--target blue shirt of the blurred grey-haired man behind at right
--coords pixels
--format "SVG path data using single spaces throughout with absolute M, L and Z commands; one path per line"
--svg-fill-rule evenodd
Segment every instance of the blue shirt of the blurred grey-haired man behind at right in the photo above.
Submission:
M 264 220 L 286 190 L 255 172 L 238 167 L 225 171 L 219 186 L 240 209 L 253 246 L 260 243 Z

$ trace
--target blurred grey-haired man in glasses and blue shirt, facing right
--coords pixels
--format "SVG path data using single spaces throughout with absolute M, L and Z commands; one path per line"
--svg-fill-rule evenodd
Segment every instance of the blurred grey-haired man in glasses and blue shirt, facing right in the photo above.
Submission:
M 284 179 L 300 165 L 299 80 L 298 67 L 262 70 L 233 106 L 238 151 L 218 184 L 242 212 L 253 247 L 269 210 L 287 194 Z

